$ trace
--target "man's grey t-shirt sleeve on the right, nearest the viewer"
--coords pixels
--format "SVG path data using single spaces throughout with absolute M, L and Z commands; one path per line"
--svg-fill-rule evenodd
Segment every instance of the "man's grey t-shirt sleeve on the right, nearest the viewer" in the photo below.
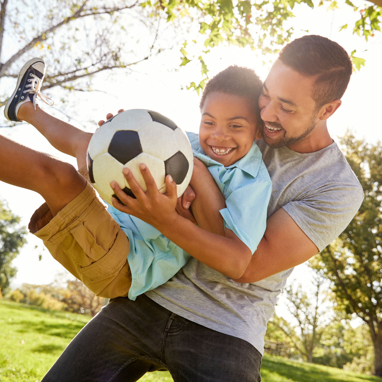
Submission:
M 348 226 L 362 201 L 360 185 L 337 184 L 282 208 L 321 252 Z

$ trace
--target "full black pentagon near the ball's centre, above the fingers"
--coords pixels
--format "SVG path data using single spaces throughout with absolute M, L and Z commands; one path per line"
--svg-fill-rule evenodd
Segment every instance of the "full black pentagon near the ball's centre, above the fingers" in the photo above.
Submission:
M 138 131 L 120 130 L 114 133 L 110 141 L 108 153 L 123 165 L 141 154 L 142 146 Z

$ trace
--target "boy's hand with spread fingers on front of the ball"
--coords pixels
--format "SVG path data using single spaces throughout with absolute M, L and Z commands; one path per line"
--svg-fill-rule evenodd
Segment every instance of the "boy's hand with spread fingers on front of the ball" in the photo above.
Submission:
M 139 165 L 139 170 L 146 183 L 147 191 L 144 192 L 131 171 L 128 168 L 124 168 L 123 175 L 125 175 L 125 179 L 128 181 L 129 187 L 136 199 L 126 195 L 116 182 L 111 182 L 111 188 L 124 204 L 118 202 L 116 198 L 112 198 L 113 206 L 121 212 L 138 217 L 158 230 L 160 228 L 169 228 L 179 218 L 175 210 L 177 202 L 175 181 L 171 175 L 167 175 L 165 179 L 167 193 L 161 194 L 157 189 L 154 178 L 144 163 Z

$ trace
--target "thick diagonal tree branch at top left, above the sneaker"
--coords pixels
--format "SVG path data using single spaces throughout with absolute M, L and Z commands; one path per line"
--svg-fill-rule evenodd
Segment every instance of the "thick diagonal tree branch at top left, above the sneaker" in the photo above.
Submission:
M 84 3 L 83 5 L 78 9 L 78 11 L 76 11 L 76 13 L 74 13 L 73 15 L 69 16 L 69 17 L 66 17 L 63 21 L 61 21 L 61 23 L 58 23 L 56 25 L 53 25 L 51 28 L 47 29 L 46 31 L 40 33 L 39 36 L 35 37 L 34 39 L 31 40 L 31 42 L 29 42 L 27 45 L 25 45 L 22 49 L 20 49 L 17 53 L 15 53 L 7 62 L 5 62 L 4 64 L 1 65 L 0 67 L 0 77 L 4 76 L 5 74 L 5 71 L 19 58 L 21 57 L 25 52 L 27 52 L 29 49 L 31 49 L 32 47 L 34 47 L 38 42 L 41 42 L 43 40 L 46 40 L 48 37 L 47 35 L 49 35 L 50 32 L 53 32 L 55 31 L 55 29 L 59 28 L 60 26 L 63 26 L 64 24 L 68 24 L 70 23 L 70 21 L 72 20 L 75 20 L 75 19 L 79 19 L 79 18 L 82 18 L 82 17 L 86 17 L 86 16 L 95 16 L 95 15 L 105 15 L 106 13 L 108 14 L 111 14 L 113 12 L 118 12 L 118 11 L 121 11 L 121 10 L 124 10 L 124 9 L 128 9 L 128 8 L 133 8 L 137 3 L 138 1 L 136 1 L 134 4 L 132 5 L 128 5 L 128 6 L 124 6 L 122 8 L 110 8 L 108 10 L 104 10 L 102 12 L 96 12 L 96 11 L 92 11 L 90 13 L 85 13 L 83 15 L 81 15 L 81 12 L 84 10 L 84 7 L 86 5 L 88 0 L 84 0 Z

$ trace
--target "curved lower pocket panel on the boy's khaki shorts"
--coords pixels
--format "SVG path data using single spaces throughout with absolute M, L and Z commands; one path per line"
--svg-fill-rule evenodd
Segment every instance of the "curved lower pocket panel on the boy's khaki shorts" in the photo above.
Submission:
M 79 268 L 78 272 L 82 274 L 90 284 L 115 277 L 126 263 L 129 249 L 130 246 L 127 236 L 123 231 L 118 231 L 112 248 L 93 264 Z M 102 249 L 102 251 L 104 250 Z

